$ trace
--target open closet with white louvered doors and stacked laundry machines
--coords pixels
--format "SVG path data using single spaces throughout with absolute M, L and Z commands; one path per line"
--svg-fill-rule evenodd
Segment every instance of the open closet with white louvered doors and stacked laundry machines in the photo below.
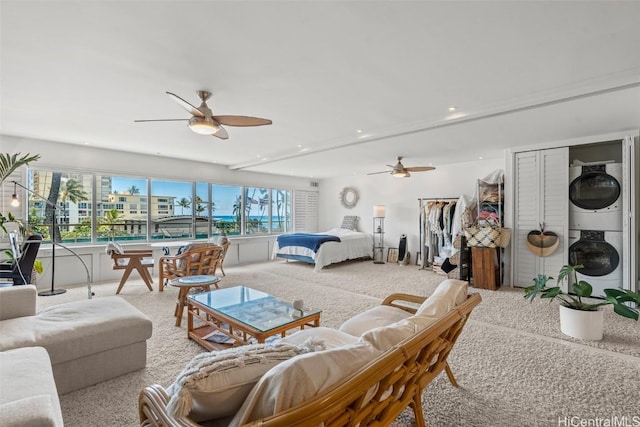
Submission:
M 585 265 L 579 279 L 592 284 L 594 296 L 605 288 L 638 290 L 637 132 L 557 145 L 513 153 L 513 285 L 557 277 L 571 263 Z M 535 230 L 559 237 L 554 251 L 531 250 L 527 237 Z

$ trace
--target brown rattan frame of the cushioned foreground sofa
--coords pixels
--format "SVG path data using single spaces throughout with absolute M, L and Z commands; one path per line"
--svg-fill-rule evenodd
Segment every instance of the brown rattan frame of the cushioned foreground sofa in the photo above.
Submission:
M 393 294 L 383 304 L 415 312 L 406 304 L 397 304 L 396 301 L 420 303 L 424 299 Z M 457 387 L 447 358 L 471 311 L 480 301 L 479 294 L 469 295 L 464 303 L 430 327 L 401 341 L 354 374 L 297 406 L 246 426 L 384 426 L 409 406 L 415 414 L 416 424 L 424 427 L 422 393 L 443 370 L 451 384 Z M 375 393 L 372 390 L 376 390 Z M 370 397 L 371 394 L 373 397 Z M 186 417 L 171 416 L 167 412 L 168 402 L 169 396 L 162 386 L 152 385 L 143 389 L 138 400 L 140 425 L 200 426 Z

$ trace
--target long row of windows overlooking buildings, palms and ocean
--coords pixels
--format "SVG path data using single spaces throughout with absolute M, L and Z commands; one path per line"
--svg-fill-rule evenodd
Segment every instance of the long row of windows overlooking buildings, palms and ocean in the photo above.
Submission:
M 28 197 L 28 223 L 45 241 L 53 232 L 64 243 L 100 243 L 292 229 L 291 191 L 286 189 L 38 169 L 28 174 L 30 188 L 41 196 Z M 51 197 L 57 200 L 55 209 L 47 203 Z

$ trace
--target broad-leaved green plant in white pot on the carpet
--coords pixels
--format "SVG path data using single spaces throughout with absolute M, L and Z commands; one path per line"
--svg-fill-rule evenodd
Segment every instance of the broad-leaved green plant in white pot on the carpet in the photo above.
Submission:
M 533 279 L 533 286 L 525 288 L 525 299 L 533 301 L 536 295 L 540 298 L 560 300 L 560 330 L 565 335 L 574 338 L 597 341 L 602 339 L 604 330 L 604 312 L 600 307 L 613 305 L 613 311 L 620 316 L 638 320 L 638 309 L 632 307 L 633 303 L 640 305 L 640 294 L 623 289 L 605 289 L 603 301 L 585 301 L 593 292 L 592 286 L 578 280 L 577 271 L 583 265 L 564 265 L 558 274 L 558 285 L 572 278 L 569 284 L 571 293 L 565 293 L 560 286 L 548 286 L 553 277 L 543 274 Z M 575 295 L 572 295 L 575 294 Z M 631 305 L 627 305 L 631 303 Z

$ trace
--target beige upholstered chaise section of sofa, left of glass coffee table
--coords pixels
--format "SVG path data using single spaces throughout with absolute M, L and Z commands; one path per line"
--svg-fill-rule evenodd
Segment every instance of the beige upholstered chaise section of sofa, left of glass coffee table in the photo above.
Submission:
M 33 285 L 0 288 L 0 351 L 44 347 L 60 394 L 146 366 L 151 320 L 121 297 L 70 302 L 39 313 L 36 299 Z M 6 369 L 0 375 L 3 384 L 13 378 Z

